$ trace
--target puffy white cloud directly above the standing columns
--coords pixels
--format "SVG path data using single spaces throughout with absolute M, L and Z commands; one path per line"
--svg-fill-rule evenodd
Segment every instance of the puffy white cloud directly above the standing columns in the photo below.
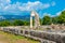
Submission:
M 49 3 L 41 3 L 40 1 L 23 3 L 22 6 L 18 6 L 21 11 L 31 11 L 31 10 L 41 10 L 50 8 Z

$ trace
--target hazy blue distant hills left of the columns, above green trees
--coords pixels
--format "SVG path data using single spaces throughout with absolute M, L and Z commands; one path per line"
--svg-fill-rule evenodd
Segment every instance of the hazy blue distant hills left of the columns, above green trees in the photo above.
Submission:
M 29 20 L 30 15 L 0 15 L 0 20 L 14 20 L 14 19 L 22 19 L 22 20 Z

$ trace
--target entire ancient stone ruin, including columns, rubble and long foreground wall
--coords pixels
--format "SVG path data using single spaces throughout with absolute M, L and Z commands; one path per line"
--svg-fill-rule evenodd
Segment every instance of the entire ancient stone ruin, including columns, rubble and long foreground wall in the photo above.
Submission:
M 32 25 L 32 17 L 35 17 L 35 26 Z M 29 26 L 15 26 L 15 27 L 0 27 L 1 31 L 10 32 L 14 34 L 24 35 L 34 40 L 40 41 L 40 43 L 65 43 L 65 28 L 63 25 L 48 25 L 40 26 L 39 15 L 37 12 L 31 11 L 30 14 L 30 27 Z M 40 28 L 40 30 L 34 30 Z M 30 30 L 31 29 L 31 30 Z M 46 29 L 46 30 L 44 30 Z

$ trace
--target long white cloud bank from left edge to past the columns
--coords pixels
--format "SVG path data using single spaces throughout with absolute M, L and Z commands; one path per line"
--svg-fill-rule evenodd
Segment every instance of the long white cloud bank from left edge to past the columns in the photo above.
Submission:
M 16 2 L 13 4 L 10 4 L 11 0 L 0 0 L 0 12 L 3 13 L 22 13 L 24 11 L 32 11 L 32 10 L 44 10 L 51 6 L 50 3 L 42 3 L 40 1 L 30 2 L 27 3 L 21 3 Z

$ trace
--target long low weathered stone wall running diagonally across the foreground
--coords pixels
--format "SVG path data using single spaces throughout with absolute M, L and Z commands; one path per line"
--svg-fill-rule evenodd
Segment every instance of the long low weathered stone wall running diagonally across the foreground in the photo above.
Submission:
M 39 40 L 41 43 L 65 43 L 65 33 L 62 32 L 47 32 L 40 30 L 22 30 L 20 28 L 1 27 L 0 30 L 14 34 L 24 35 L 35 40 Z

